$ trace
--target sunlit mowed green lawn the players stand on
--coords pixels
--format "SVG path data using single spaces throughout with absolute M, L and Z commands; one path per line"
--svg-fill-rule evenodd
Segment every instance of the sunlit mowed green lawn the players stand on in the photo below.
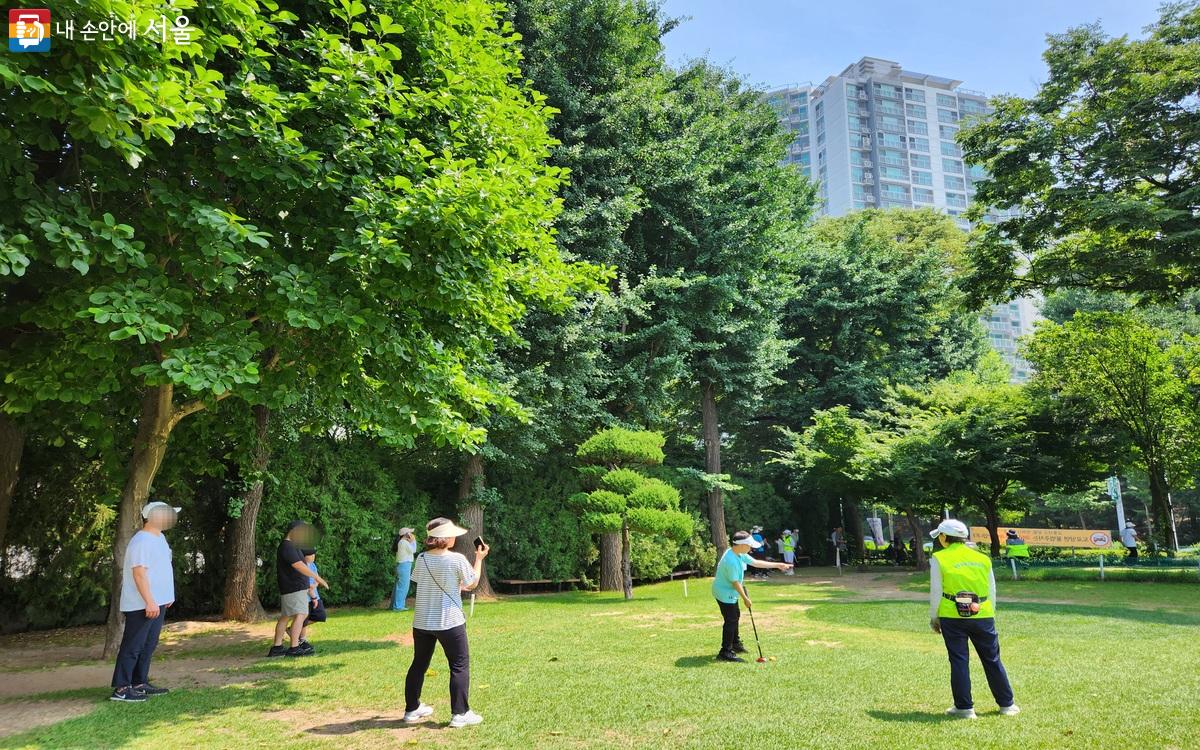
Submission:
M 977 721 L 942 716 L 946 653 L 914 576 L 751 583 L 768 664 L 714 662 L 716 606 L 707 581 L 689 589 L 479 604 L 479 727 L 444 727 L 440 650 L 424 696 L 436 722 L 404 727 L 410 616 L 340 610 L 313 628 L 314 658 L 226 647 L 256 682 L 133 706 L 86 691 L 91 714 L 0 748 L 1200 748 L 1200 586 L 1002 581 L 1002 653 L 1024 713 L 1000 716 L 974 664 Z M 743 637 L 752 648 L 745 617 Z

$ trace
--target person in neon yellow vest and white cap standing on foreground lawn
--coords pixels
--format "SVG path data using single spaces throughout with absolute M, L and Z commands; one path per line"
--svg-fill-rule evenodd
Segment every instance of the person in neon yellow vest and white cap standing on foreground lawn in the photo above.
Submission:
M 1000 635 L 996 632 L 996 577 L 991 558 L 966 545 L 971 532 L 961 521 L 947 518 L 930 532 L 941 542 L 929 564 L 929 625 L 942 634 L 950 658 L 950 691 L 954 706 L 946 714 L 956 719 L 974 719 L 971 700 L 971 650 L 974 644 L 983 662 L 988 686 L 1000 706 L 1000 713 L 1020 713 L 1013 702 L 1013 688 L 1000 661 Z

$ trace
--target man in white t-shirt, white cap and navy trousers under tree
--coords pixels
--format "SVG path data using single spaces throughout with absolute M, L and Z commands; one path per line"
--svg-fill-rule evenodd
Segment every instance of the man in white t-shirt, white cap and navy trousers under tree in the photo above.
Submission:
M 166 688 L 150 684 L 150 658 L 158 646 L 167 607 L 175 604 L 175 572 L 162 533 L 175 526 L 176 514 L 179 509 L 166 503 L 146 503 L 142 509 L 142 530 L 125 548 L 121 566 L 125 635 L 116 652 L 109 700 L 140 703 L 146 696 L 167 692 Z

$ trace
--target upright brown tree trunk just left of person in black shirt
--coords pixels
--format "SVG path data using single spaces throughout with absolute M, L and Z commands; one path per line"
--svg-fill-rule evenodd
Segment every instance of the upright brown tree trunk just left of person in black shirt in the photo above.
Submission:
M 226 536 L 226 588 L 221 616 L 224 619 L 252 623 L 266 617 L 258 601 L 258 556 L 254 530 L 258 511 L 263 505 L 263 474 L 271 458 L 269 425 L 271 410 L 263 404 L 251 409 L 254 414 L 254 446 L 251 455 L 253 481 L 241 496 L 241 514 L 232 518 Z

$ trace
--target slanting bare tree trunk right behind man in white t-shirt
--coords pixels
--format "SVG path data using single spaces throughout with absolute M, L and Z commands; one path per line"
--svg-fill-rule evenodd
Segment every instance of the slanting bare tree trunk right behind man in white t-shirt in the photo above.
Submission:
M 125 564 L 125 548 L 140 526 L 140 511 L 150 497 L 154 478 L 162 466 L 167 452 L 167 440 L 175 426 L 175 410 L 172 403 L 174 388 L 167 385 L 150 386 L 142 395 L 142 415 L 138 418 L 138 434 L 133 440 L 133 455 L 130 458 L 125 476 L 125 488 L 116 511 L 116 534 L 113 539 L 113 577 L 108 589 L 108 626 L 104 631 L 104 652 L 102 658 L 109 659 L 116 653 L 121 642 L 121 568 Z M 167 604 L 160 601 L 160 605 Z

